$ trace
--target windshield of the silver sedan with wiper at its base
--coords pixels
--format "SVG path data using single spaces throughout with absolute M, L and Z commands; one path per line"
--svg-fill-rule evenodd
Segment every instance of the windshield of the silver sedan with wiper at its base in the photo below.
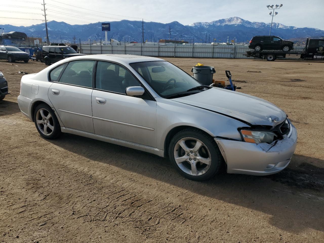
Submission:
M 163 98 L 171 98 L 176 94 L 202 85 L 179 67 L 167 61 L 132 63 L 130 65 Z M 195 93 L 201 91 L 203 90 L 196 90 Z M 192 92 L 188 94 L 192 94 Z

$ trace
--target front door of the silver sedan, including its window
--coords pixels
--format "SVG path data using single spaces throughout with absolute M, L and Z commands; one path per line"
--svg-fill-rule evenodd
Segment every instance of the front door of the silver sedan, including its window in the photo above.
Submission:
M 156 101 L 127 96 L 129 86 L 140 86 L 130 71 L 98 61 L 91 98 L 95 133 L 156 147 Z

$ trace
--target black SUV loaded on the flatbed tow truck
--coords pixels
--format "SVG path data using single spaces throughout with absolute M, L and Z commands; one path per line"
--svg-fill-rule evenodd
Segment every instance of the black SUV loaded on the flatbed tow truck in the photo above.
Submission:
M 284 41 L 280 37 L 274 35 L 257 35 L 252 37 L 249 48 L 258 52 L 262 50 L 282 50 L 284 52 L 289 52 L 294 49 L 294 42 Z

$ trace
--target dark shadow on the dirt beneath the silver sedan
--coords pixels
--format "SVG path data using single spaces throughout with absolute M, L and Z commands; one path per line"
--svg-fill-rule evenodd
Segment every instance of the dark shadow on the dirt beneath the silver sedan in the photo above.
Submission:
M 318 162 L 316 158 L 295 155 L 288 168 L 272 176 L 221 173 L 211 180 L 197 182 L 180 176 L 168 159 L 138 150 L 66 133 L 50 142 L 93 161 L 263 212 L 269 215 L 273 226 L 289 232 L 298 233 L 306 228 L 324 231 L 320 216 L 323 215 L 324 198 L 320 195 L 323 195 L 324 169 L 310 165 Z M 294 168 L 295 164 L 300 170 Z

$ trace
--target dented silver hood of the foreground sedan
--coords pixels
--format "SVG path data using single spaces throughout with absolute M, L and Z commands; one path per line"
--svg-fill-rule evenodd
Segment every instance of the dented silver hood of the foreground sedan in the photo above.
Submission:
M 213 87 L 174 101 L 211 110 L 251 125 L 276 126 L 286 119 L 286 113 L 274 104 L 251 95 Z

